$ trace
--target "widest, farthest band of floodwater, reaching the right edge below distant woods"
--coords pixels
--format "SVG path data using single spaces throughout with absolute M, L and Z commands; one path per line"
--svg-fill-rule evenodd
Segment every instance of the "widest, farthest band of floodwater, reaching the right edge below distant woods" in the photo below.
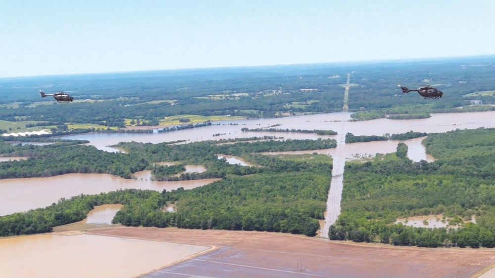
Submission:
M 119 142 L 131 141 L 161 143 L 176 140 L 188 140 L 188 142 L 195 142 L 204 140 L 260 137 L 264 135 L 284 137 L 285 139 L 334 138 L 334 136 L 331 135 L 317 135 L 314 133 L 241 131 L 241 128 L 243 127 L 247 127 L 249 129 L 263 127 L 269 128 L 275 124 L 280 124 L 275 127 L 279 129 L 331 129 L 339 132 L 341 129 L 340 126 L 344 122 L 345 128 L 343 132 L 351 132 L 354 135 L 384 135 L 386 133 L 404 133 L 411 130 L 431 133 L 446 132 L 456 128 L 472 129 L 482 126 L 495 127 L 495 121 L 491 120 L 495 116 L 495 111 L 432 114 L 432 117 L 427 119 L 374 119 L 368 121 L 350 121 L 350 114 L 351 113 L 340 112 L 274 119 L 229 120 L 219 121 L 209 126 L 165 133 L 86 133 L 67 135 L 59 138 L 89 140 L 90 145 L 93 145 L 100 150 L 116 151 L 108 146 L 115 145 Z

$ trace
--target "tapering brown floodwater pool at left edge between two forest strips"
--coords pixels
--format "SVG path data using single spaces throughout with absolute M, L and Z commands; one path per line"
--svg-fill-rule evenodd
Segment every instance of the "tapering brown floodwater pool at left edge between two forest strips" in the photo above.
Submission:
M 218 179 L 158 182 L 149 179 L 124 179 L 109 174 L 66 174 L 47 178 L 1 179 L 0 216 L 46 207 L 60 198 L 68 199 L 81 193 L 91 195 L 131 188 L 158 192 L 180 187 L 193 189 L 215 180 Z

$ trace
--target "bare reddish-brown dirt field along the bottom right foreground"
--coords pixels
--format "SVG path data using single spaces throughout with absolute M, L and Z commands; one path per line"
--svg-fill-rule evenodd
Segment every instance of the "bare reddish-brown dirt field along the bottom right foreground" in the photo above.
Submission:
M 211 252 L 146 277 L 472 277 L 495 264 L 494 249 L 394 247 L 246 231 L 115 227 L 112 237 L 210 245 Z

